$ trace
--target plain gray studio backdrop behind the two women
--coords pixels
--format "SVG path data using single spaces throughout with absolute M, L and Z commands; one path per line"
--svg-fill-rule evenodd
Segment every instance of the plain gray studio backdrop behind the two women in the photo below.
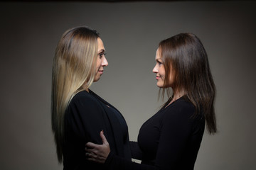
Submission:
M 0 169 L 62 169 L 50 128 L 51 64 L 68 28 L 100 32 L 109 66 L 92 90 L 121 111 L 131 140 L 156 113 L 160 40 L 201 38 L 217 86 L 218 134 L 205 133 L 195 169 L 255 169 L 254 1 L 0 3 Z

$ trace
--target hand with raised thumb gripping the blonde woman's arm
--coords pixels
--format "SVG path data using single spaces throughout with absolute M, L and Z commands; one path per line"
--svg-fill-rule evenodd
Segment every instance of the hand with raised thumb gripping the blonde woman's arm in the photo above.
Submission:
M 87 142 L 85 145 L 85 156 L 89 161 L 104 164 L 107 156 L 110 154 L 110 145 L 107 142 L 105 135 L 103 134 L 103 130 L 100 131 L 100 137 L 102 138 L 102 145 Z

